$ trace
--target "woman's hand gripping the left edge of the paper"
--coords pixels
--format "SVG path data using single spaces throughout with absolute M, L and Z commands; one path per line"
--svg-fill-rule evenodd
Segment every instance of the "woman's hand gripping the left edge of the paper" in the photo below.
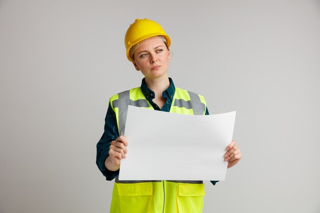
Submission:
M 111 141 L 109 149 L 109 158 L 114 166 L 119 166 L 121 159 L 126 158 L 128 142 L 127 139 L 120 135 L 116 140 Z

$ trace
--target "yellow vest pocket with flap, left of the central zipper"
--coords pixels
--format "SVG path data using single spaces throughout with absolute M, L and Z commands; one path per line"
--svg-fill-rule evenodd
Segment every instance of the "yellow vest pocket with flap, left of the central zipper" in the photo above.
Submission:
M 152 201 L 152 182 L 118 183 L 121 213 L 147 213 Z

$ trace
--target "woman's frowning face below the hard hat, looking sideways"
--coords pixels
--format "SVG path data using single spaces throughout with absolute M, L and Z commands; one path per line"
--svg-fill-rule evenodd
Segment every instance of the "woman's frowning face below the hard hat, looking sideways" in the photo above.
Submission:
M 135 49 L 133 65 L 146 79 L 168 77 L 170 51 L 163 40 L 154 37 L 141 43 Z

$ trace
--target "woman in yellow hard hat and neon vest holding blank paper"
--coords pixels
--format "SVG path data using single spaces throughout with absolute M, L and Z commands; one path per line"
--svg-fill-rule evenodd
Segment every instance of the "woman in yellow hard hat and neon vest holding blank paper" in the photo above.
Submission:
M 97 144 L 100 171 L 107 180 L 116 178 L 110 206 L 112 213 L 202 212 L 205 194 L 202 181 L 118 179 L 121 159 L 128 153 L 128 141 L 123 136 L 128 105 L 172 113 L 209 114 L 202 96 L 175 87 L 168 77 L 170 43 L 163 28 L 152 20 L 136 19 L 126 32 L 126 56 L 145 78 L 140 87 L 110 98 L 104 133 Z M 224 160 L 230 168 L 240 159 L 241 152 L 233 140 L 226 147 Z

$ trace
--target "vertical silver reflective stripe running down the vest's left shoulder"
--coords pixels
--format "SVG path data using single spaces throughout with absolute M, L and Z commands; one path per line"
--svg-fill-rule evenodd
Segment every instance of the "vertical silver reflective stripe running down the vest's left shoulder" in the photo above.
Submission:
M 124 135 L 124 129 L 127 120 L 128 106 L 130 103 L 130 92 L 129 90 L 119 93 L 119 99 L 117 102 L 119 108 L 119 134 Z M 113 108 L 115 105 L 113 105 Z

